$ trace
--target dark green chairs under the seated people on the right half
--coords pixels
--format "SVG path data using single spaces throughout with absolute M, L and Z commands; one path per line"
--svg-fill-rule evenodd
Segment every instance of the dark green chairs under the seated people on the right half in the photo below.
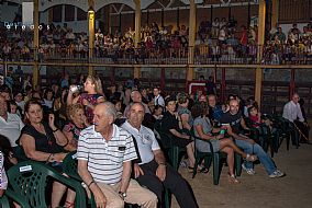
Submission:
M 246 119 L 247 126 L 250 129 L 249 137 L 257 141 L 264 150 L 267 152 L 268 149 L 270 150 L 271 158 L 274 158 L 274 154 L 278 152 L 279 147 L 286 140 L 287 142 L 287 150 L 289 150 L 289 143 L 290 140 L 293 140 L 296 147 L 299 147 L 299 136 L 294 129 L 294 126 L 289 120 L 285 119 L 280 115 L 266 115 L 268 119 L 272 122 L 272 127 L 275 131 L 272 131 L 268 126 L 260 125 L 259 128 L 254 128 L 252 125 L 252 122 Z M 161 128 L 161 120 L 157 120 L 155 123 L 154 129 L 159 135 L 159 142 L 163 146 L 163 149 L 165 152 L 167 152 L 167 159 L 169 163 L 175 167 L 175 170 L 178 170 L 180 160 L 182 155 L 186 153 L 185 148 L 177 147 L 172 145 L 170 141 L 170 137 L 172 135 L 169 135 L 165 132 Z M 196 140 L 203 140 L 194 135 L 193 129 L 188 132 L 192 139 Z M 293 138 L 292 138 L 293 137 Z M 192 173 L 192 177 L 194 178 L 196 174 L 198 173 L 198 165 L 201 164 L 201 162 L 204 160 L 204 166 L 207 169 L 210 169 L 212 165 L 213 167 L 213 184 L 218 185 L 222 166 L 223 166 L 223 159 L 226 158 L 226 153 L 214 151 L 212 143 L 209 140 L 203 140 L 209 143 L 211 152 L 200 152 L 194 147 L 194 155 L 196 155 L 196 164 Z M 196 142 L 194 142 L 196 143 Z M 242 173 L 242 155 L 235 153 L 235 173 L 236 176 L 241 176 Z

